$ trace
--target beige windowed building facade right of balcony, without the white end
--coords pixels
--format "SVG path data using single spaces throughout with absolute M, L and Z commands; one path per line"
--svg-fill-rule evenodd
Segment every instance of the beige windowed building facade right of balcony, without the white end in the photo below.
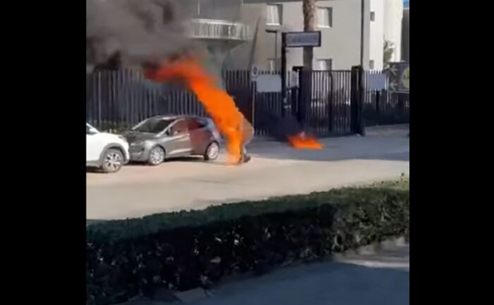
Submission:
M 346 70 L 361 63 L 368 68 L 369 0 L 317 1 L 316 6 L 321 46 L 314 49 L 313 68 Z M 252 39 L 232 49 L 224 66 L 279 70 L 281 33 L 303 31 L 302 2 L 243 0 L 241 22 L 251 28 Z M 301 48 L 288 49 L 287 68 L 302 66 L 302 54 Z

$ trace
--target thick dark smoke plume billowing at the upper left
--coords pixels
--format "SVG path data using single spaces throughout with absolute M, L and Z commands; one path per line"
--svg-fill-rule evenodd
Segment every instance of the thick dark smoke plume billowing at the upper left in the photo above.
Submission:
M 138 67 L 197 45 L 187 38 L 188 1 L 86 0 L 86 63 Z

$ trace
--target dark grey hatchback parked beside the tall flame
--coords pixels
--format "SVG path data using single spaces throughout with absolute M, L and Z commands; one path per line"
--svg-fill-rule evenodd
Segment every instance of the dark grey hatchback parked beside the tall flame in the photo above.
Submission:
M 166 158 L 219 156 L 219 133 L 210 118 L 154 116 L 143 120 L 124 135 L 130 144 L 131 161 L 157 166 Z

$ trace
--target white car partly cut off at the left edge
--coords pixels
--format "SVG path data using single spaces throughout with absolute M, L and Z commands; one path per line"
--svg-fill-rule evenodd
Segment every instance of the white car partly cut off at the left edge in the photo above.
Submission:
M 128 163 L 128 142 L 120 135 L 99 132 L 86 123 L 86 167 L 116 173 Z

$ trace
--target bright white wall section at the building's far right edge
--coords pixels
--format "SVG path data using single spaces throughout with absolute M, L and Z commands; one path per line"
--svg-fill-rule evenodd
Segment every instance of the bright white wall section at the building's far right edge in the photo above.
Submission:
M 391 61 L 400 61 L 402 54 L 402 0 L 380 0 L 385 4 L 384 39 L 394 45 Z

